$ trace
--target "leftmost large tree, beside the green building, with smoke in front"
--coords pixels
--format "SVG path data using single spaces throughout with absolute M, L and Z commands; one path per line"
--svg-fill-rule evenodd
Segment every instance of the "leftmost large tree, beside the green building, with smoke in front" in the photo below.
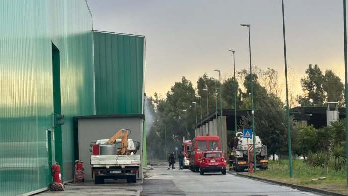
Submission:
M 164 99 L 155 93 L 154 98 L 150 97 L 155 115 L 147 137 L 149 158 L 165 157 L 168 153 L 165 152 L 165 141 L 167 151 L 172 152 L 175 146 L 182 144 L 185 135 L 185 112 L 182 110 L 187 110 L 187 135 L 189 138 L 194 135 L 195 110 L 192 101 L 196 100 L 196 97 L 191 81 L 183 76 L 180 82 L 175 82 L 166 96 Z

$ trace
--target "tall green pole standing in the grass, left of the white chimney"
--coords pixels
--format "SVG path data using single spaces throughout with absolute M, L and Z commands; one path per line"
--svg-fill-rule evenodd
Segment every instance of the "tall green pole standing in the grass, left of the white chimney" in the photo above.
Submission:
M 284 0 L 281 0 L 283 8 L 283 37 L 284 37 L 284 60 L 285 60 L 285 84 L 286 84 L 286 121 L 287 121 L 287 143 L 289 150 L 289 172 L 290 178 L 292 175 L 292 151 L 291 151 L 291 127 L 290 127 L 290 112 L 289 112 L 289 91 L 287 85 L 287 64 L 286 64 L 286 42 L 285 42 L 285 19 L 284 19 Z

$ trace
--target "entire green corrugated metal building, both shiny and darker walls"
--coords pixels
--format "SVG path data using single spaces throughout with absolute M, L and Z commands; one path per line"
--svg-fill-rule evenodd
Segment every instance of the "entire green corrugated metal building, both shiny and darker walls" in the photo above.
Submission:
M 0 1 L 0 195 L 46 190 L 53 161 L 72 181 L 73 116 L 143 114 L 145 37 L 108 34 L 85 0 Z

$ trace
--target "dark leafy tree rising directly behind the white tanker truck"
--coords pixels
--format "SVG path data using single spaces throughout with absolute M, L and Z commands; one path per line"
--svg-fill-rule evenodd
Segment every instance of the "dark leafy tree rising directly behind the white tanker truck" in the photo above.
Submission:
M 269 154 L 286 152 L 285 124 L 286 116 L 284 104 L 280 98 L 270 93 L 257 81 L 257 75 L 253 74 L 253 96 L 255 110 L 255 134 L 260 137 L 263 144 L 267 145 Z M 247 89 L 241 107 L 250 109 L 250 75 L 245 76 L 244 87 Z M 251 116 L 243 117 L 240 128 L 251 127 Z

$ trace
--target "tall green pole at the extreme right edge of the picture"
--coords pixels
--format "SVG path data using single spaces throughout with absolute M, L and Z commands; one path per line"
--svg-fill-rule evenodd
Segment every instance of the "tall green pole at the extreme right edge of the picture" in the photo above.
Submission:
M 343 0 L 343 39 L 344 39 L 344 52 L 345 52 L 345 104 L 346 104 L 346 157 L 348 157 L 348 98 L 347 98 L 347 30 L 346 30 L 346 0 Z M 346 162 L 346 184 L 348 186 L 348 162 Z

